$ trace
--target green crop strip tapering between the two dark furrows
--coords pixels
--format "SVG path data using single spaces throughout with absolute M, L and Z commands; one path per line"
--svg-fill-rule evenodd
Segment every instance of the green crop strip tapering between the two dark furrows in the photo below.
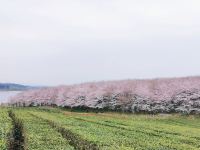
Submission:
M 68 141 L 44 120 L 30 115 L 26 110 L 15 110 L 14 113 L 24 122 L 28 150 L 73 149 Z

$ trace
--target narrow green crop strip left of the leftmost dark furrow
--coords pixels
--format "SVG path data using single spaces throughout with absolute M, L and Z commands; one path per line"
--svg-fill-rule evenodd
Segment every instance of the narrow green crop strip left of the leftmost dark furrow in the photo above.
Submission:
M 9 148 L 12 121 L 8 116 L 7 109 L 0 108 L 0 150 Z

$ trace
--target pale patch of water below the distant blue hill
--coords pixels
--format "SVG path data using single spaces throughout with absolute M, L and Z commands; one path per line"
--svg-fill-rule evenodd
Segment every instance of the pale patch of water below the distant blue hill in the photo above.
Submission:
M 19 94 L 21 91 L 0 91 L 0 104 L 5 103 L 11 98 Z

